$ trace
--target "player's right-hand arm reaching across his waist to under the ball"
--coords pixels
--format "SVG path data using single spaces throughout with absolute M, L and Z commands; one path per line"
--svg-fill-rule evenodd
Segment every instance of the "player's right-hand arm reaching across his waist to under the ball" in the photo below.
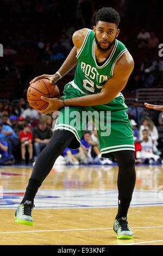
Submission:
M 109 103 L 126 86 L 133 68 L 134 60 L 129 52 L 125 52 L 115 65 L 114 75 L 106 81 L 100 93 L 66 99 L 65 106 L 94 106 Z M 41 99 L 49 103 L 45 111 L 40 112 L 43 114 L 51 113 L 63 106 L 60 99 L 48 99 L 42 96 Z

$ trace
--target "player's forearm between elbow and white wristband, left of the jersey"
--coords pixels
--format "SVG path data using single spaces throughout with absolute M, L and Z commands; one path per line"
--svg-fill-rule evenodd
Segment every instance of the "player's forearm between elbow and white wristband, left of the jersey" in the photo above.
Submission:
M 78 59 L 76 58 L 77 50 L 76 47 L 73 47 L 71 52 L 68 54 L 65 62 L 61 65 L 58 72 L 61 76 L 65 76 L 70 70 L 74 68 L 78 64 Z

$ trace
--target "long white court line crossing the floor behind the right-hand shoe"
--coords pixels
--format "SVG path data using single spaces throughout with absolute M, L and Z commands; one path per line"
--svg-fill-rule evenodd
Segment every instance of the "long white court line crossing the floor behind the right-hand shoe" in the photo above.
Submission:
M 157 227 L 133 227 L 133 228 L 163 228 L 163 226 Z M 131 229 L 133 229 L 131 228 Z M 34 233 L 34 232 L 55 232 L 55 231 L 79 231 L 79 230 L 104 230 L 112 228 L 81 228 L 81 229 L 54 229 L 54 230 L 31 230 L 31 231 L 11 231 L 11 232 L 0 232 L 0 234 L 10 234 L 10 233 Z

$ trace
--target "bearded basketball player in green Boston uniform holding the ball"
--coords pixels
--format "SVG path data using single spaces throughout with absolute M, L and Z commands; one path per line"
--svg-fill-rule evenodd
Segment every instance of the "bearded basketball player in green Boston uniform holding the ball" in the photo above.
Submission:
M 47 147 L 39 155 L 32 175 L 29 179 L 24 198 L 15 212 L 16 222 L 33 225 L 32 211 L 34 197 L 43 180 L 51 172 L 57 157 L 65 148 L 80 147 L 85 123 L 70 125 L 72 111 L 78 111 L 82 118 L 83 111 L 104 112 L 103 122 L 109 126 L 106 113 L 111 112 L 111 132 L 109 136 L 102 135 L 102 129 L 97 129 L 99 148 L 102 157 L 115 156 L 118 162 L 118 212 L 114 221 L 114 232 L 118 239 L 132 239 L 133 232 L 127 221 L 127 212 L 135 186 L 134 139 L 130 121 L 126 111 L 121 90 L 126 86 L 133 71 L 134 61 L 122 42 L 117 40 L 120 32 L 118 25 L 120 16 L 112 8 L 102 8 L 96 14 L 96 26 L 93 30 L 83 28 L 76 31 L 70 54 L 64 64 L 54 75 L 42 75 L 34 78 L 49 78 L 51 83 L 57 82 L 77 64 L 74 80 L 66 84 L 62 99 L 47 99 L 49 105 L 41 113 L 51 113 L 60 110 L 54 134 Z M 32 83 L 30 82 L 30 83 Z M 66 107 L 69 107 L 68 117 L 65 117 Z M 68 120 L 67 120 L 68 119 Z M 93 120 L 96 125 L 96 120 Z M 100 126 L 101 127 L 101 126 Z

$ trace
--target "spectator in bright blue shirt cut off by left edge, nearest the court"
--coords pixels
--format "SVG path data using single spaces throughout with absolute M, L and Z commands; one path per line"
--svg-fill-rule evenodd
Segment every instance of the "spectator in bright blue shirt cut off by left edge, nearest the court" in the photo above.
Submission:
M 0 165 L 13 164 L 14 162 L 14 156 L 9 155 L 7 141 L 0 139 Z

